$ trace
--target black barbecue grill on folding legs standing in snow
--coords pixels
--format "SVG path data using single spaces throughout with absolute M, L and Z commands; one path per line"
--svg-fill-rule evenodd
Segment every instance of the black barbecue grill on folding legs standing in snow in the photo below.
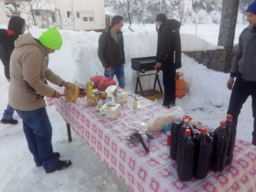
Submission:
M 156 73 L 153 73 L 153 74 L 140 75 L 140 73 L 145 73 L 146 71 L 155 71 L 154 67 L 156 65 L 156 56 L 131 58 L 131 61 L 132 61 L 132 69 L 137 72 L 137 82 L 136 82 L 135 93 L 137 95 L 141 95 L 143 97 L 146 97 L 147 99 L 150 99 L 150 100 L 163 98 L 163 91 L 162 91 L 161 84 L 160 84 L 160 81 L 159 81 L 159 78 L 158 78 L 159 77 L 159 75 L 158 75 L 159 70 L 156 70 Z M 156 75 L 154 88 L 151 89 L 151 90 L 144 90 L 143 91 L 141 83 L 140 83 L 140 77 L 148 76 L 148 75 Z M 158 82 L 160 92 L 155 90 L 156 82 Z M 138 85 L 140 86 L 140 90 L 141 90 L 139 92 L 137 92 Z

